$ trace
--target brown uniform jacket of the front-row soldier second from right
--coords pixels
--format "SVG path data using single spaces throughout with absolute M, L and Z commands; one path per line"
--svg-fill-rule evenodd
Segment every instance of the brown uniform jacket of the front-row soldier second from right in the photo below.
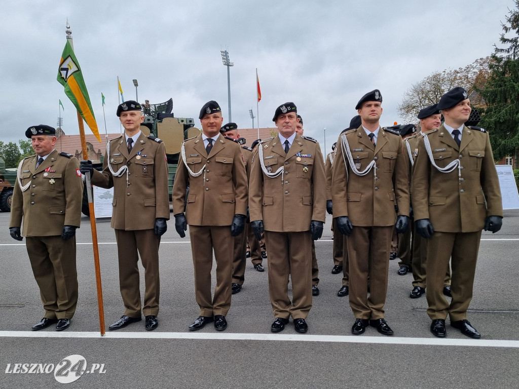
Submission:
M 360 164 L 358 170 L 364 170 L 375 161 L 376 180 L 374 167 L 364 176 L 353 173 L 347 156 L 343 158 L 342 136 L 347 137 L 353 162 Z M 398 215 L 409 216 L 407 155 L 400 135 L 380 128 L 375 147 L 361 126 L 339 136 L 336 150 L 332 182 L 333 217 L 348 216 L 353 226 L 391 226 L 397 221 L 395 205 L 398 206 Z

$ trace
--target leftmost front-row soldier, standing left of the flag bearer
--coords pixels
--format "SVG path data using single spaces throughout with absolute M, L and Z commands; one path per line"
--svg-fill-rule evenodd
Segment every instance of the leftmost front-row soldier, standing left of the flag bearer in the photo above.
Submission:
M 56 130 L 40 124 L 25 131 L 36 155 L 18 166 L 9 231 L 21 241 L 31 261 L 45 314 L 37 331 L 70 326 L 77 305 L 76 228 L 81 223 L 83 180 L 78 160 L 54 149 Z M 20 226 L 23 228 L 20 231 Z

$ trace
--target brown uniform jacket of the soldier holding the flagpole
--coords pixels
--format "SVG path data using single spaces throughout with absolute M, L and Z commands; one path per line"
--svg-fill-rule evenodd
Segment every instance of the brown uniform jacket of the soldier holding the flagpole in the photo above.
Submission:
M 126 173 L 114 177 L 108 163 L 114 172 L 128 166 L 129 186 Z M 93 185 L 114 188 L 112 228 L 148 230 L 154 228 L 157 217 L 169 219 L 168 163 L 163 143 L 141 133 L 128 155 L 123 134 L 110 141 L 110 156 L 103 160 L 103 171 L 93 173 Z

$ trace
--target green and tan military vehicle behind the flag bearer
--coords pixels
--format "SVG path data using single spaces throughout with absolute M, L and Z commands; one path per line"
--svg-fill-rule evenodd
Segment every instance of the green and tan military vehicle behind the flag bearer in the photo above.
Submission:
M 179 164 L 180 148 L 182 142 L 200 134 L 200 130 L 194 127 L 193 118 L 177 118 L 173 114 L 173 99 L 160 104 L 149 104 L 148 100 L 142 104 L 144 121 L 141 123 L 141 131 L 146 136 L 154 135 L 160 138 L 166 146 L 166 158 L 168 160 L 168 190 L 169 201 L 173 191 L 176 167 Z M 101 171 L 103 163 L 94 163 L 94 169 Z M 89 215 L 86 191 L 83 196 L 82 212 Z

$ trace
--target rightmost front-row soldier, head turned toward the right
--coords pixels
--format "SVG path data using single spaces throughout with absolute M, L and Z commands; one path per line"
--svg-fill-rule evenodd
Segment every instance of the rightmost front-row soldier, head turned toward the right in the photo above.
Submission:
M 460 87 L 448 91 L 438 109 L 445 122 L 419 141 L 413 173 L 416 232 L 428 239 L 427 314 L 435 336 L 446 336 L 448 315 L 451 326 L 478 339 L 481 335 L 467 320 L 467 309 L 481 230 L 501 229 L 501 191 L 488 133 L 463 124 L 471 113 L 467 91 Z M 450 304 L 442 294 L 449 258 Z

